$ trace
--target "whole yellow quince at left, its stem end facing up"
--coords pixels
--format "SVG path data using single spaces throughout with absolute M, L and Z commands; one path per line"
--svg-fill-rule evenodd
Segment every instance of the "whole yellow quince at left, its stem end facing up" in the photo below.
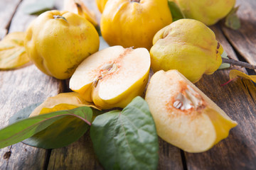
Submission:
M 99 45 L 92 23 L 68 11 L 42 13 L 26 31 L 28 57 L 38 69 L 57 79 L 70 78 L 78 64 L 97 52 Z

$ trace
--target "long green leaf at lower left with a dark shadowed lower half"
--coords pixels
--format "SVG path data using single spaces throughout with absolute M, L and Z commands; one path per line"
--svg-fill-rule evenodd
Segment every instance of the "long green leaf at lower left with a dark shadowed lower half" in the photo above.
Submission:
M 33 106 L 25 110 L 31 111 L 31 108 Z M 23 116 L 26 115 L 26 111 L 21 112 Z M 0 130 L 0 148 L 32 136 L 37 141 L 27 141 L 33 146 L 47 149 L 63 147 L 78 140 L 86 132 L 91 120 L 92 110 L 87 106 L 25 118 Z

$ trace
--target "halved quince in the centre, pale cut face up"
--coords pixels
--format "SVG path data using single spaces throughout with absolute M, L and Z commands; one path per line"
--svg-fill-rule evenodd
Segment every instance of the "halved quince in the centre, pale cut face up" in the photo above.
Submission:
M 87 57 L 70 79 L 70 89 L 97 108 L 124 108 L 141 96 L 149 78 L 146 48 L 107 47 Z

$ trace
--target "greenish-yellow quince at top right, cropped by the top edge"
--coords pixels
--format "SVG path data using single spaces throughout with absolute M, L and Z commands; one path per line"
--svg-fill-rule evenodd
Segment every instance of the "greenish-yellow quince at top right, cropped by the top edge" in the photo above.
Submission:
M 211 26 L 228 15 L 235 0 L 171 0 L 178 4 L 186 18 L 196 19 Z

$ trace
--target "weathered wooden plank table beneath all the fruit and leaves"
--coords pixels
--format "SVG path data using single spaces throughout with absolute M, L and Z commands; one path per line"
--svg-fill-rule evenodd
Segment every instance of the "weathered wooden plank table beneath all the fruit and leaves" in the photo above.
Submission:
M 23 6 L 36 0 L 0 1 L 0 39 L 14 31 L 25 31 L 36 17 L 23 12 Z M 84 0 L 94 9 L 100 21 L 95 1 Z M 61 9 L 62 1 L 55 1 Z M 256 64 L 256 1 L 238 0 L 240 30 L 230 30 L 220 23 L 210 28 L 225 51 L 234 59 Z M 242 72 L 253 70 L 239 67 Z M 209 98 L 220 106 L 238 126 L 227 139 L 208 152 L 191 154 L 159 139 L 159 169 L 256 169 L 256 87 L 252 81 L 237 79 L 226 86 L 229 70 L 218 70 L 196 83 Z M 21 69 L 0 71 L 0 128 L 8 125 L 11 115 L 32 103 L 68 91 L 65 81 L 48 77 L 33 64 Z M 0 149 L 0 169 L 102 169 L 86 133 L 78 142 L 59 149 L 39 149 L 19 142 Z

